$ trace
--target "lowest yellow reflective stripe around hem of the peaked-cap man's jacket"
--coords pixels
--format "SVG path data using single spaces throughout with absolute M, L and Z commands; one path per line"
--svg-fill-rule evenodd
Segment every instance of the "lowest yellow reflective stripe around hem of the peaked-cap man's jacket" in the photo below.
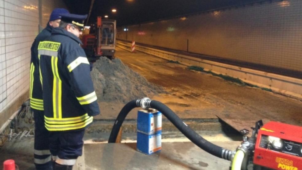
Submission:
M 86 127 L 93 120 L 93 117 L 86 119 L 84 122 L 75 123 L 75 124 L 67 124 L 67 125 L 48 125 L 45 123 L 45 128 L 49 131 L 63 131 L 63 130 L 75 130 Z

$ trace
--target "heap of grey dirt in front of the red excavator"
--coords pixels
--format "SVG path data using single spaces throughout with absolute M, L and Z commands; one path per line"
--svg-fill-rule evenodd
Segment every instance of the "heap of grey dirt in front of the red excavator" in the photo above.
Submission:
M 91 78 L 99 102 L 127 103 L 133 99 L 151 98 L 165 91 L 125 66 L 118 58 L 101 57 L 93 64 Z

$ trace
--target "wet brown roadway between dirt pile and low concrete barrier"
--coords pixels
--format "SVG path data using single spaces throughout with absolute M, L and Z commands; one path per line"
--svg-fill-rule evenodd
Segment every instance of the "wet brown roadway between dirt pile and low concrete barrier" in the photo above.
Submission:
M 180 118 L 219 117 L 237 130 L 250 129 L 260 119 L 302 126 L 300 100 L 241 86 L 138 51 L 117 48 L 116 57 L 149 82 L 164 87 L 167 94 L 150 98 L 166 104 Z

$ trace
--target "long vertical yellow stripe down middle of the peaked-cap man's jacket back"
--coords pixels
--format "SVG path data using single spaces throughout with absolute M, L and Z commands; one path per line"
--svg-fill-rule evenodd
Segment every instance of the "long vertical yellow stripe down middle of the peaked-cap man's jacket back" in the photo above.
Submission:
M 52 105 L 54 118 L 62 118 L 62 81 L 58 72 L 58 57 L 51 57 L 53 74 Z

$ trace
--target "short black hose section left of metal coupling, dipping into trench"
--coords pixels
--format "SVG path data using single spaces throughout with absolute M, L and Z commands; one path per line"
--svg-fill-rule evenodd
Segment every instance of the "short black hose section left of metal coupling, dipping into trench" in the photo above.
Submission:
M 135 107 L 138 107 L 137 105 L 137 100 L 131 100 L 130 102 L 128 102 L 120 111 L 120 113 L 118 114 L 118 117 L 116 118 L 114 125 L 112 127 L 110 136 L 109 136 L 109 140 L 108 143 L 115 143 L 116 138 L 118 136 L 118 132 L 119 129 L 122 126 L 122 123 L 124 122 L 127 114 L 134 109 Z

